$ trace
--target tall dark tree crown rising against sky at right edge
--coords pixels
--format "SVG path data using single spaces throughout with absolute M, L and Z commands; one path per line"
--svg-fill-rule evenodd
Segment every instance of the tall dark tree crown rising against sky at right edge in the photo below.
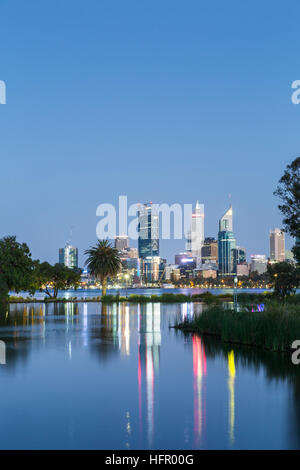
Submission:
M 285 231 L 296 238 L 293 252 L 300 263 L 300 157 L 287 165 L 274 195 L 281 200 L 278 208 L 284 216 Z

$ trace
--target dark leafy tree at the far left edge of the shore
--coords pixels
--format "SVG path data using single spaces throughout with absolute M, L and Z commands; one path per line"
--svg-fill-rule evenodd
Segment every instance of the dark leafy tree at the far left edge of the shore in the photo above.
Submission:
M 26 243 L 18 243 L 16 237 L 0 240 L 0 298 L 7 300 L 9 291 L 34 292 L 32 284 L 33 261 Z

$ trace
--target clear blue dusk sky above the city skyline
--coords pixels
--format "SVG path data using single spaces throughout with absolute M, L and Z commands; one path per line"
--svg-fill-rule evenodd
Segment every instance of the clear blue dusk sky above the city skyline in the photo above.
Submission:
M 238 243 L 268 254 L 273 190 L 299 155 L 299 2 L 0 0 L 0 236 L 55 262 L 96 207 L 232 196 Z M 184 241 L 164 241 L 173 261 Z

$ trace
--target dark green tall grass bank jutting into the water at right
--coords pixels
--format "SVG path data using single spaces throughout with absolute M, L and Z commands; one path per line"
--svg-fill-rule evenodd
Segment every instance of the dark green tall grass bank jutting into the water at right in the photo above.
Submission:
M 264 312 L 234 312 L 214 306 L 176 327 L 216 335 L 225 342 L 285 351 L 300 339 L 300 308 L 269 302 Z

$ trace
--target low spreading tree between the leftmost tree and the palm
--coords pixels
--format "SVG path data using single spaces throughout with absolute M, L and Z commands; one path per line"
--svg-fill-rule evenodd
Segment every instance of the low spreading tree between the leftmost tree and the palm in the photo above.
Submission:
M 77 289 L 80 283 L 81 270 L 71 269 L 63 264 L 35 263 L 35 282 L 40 292 L 50 298 L 57 298 L 59 290 Z

